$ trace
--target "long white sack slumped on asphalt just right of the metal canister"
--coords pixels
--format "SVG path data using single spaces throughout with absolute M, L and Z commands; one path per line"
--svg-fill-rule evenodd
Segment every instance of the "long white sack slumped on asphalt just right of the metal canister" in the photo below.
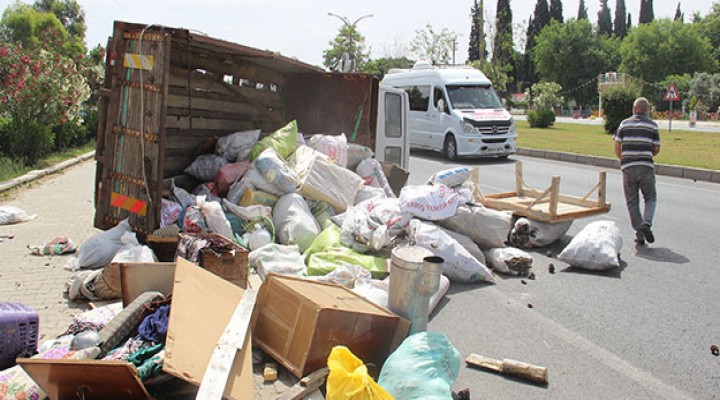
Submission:
M 410 221 L 408 236 L 416 246 L 428 249 L 445 260 L 443 274 L 451 281 L 495 282 L 492 272 L 483 263 L 437 226 L 414 219 Z

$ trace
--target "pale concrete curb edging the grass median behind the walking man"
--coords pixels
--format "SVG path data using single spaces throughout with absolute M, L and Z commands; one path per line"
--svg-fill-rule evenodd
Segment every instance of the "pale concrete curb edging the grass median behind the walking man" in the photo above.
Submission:
M 549 160 L 568 161 L 579 164 L 593 165 L 596 167 L 620 169 L 620 161 L 616 158 L 586 156 L 583 154 L 565 153 L 562 151 L 526 149 L 519 147 L 517 154 L 528 157 L 545 158 Z M 695 181 L 706 181 L 720 183 L 720 171 L 703 168 L 678 167 L 676 165 L 655 164 L 657 175 L 672 176 L 675 178 L 692 179 Z

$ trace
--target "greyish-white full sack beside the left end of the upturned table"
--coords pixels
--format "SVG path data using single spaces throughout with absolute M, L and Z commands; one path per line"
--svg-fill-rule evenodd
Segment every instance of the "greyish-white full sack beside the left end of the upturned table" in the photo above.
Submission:
M 483 249 L 505 247 L 512 226 L 512 213 L 492 210 L 481 205 L 463 205 L 455 216 L 438 221 L 438 225 L 462 233 Z

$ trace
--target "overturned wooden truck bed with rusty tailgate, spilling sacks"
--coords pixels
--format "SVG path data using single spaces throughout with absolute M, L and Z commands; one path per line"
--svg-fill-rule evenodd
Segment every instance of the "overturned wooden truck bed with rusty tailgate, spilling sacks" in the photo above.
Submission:
M 163 181 L 181 175 L 208 139 L 270 133 L 354 133 L 374 148 L 378 80 L 326 73 L 278 53 L 186 29 L 115 22 L 97 137 L 95 226 L 129 218 L 159 227 Z

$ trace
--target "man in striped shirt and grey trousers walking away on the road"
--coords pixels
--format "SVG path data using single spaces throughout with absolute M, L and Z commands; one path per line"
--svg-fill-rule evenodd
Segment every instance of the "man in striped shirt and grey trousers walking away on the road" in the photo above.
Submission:
M 615 132 L 615 154 L 620 159 L 625 201 L 635 229 L 635 243 L 640 245 L 646 240 L 655 241 L 651 229 L 657 205 L 653 156 L 660 152 L 660 133 L 647 115 L 648 106 L 646 98 L 635 99 L 633 116 L 621 122 Z M 642 213 L 638 192 L 642 192 L 645 203 Z

